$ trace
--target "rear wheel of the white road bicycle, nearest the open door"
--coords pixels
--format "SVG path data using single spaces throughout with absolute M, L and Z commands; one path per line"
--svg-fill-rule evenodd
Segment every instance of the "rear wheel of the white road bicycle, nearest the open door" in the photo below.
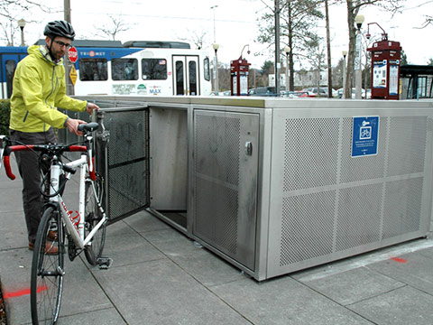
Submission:
M 97 200 L 103 205 L 102 200 L 104 199 L 104 188 L 103 179 L 101 175 L 97 174 L 96 181 L 86 181 L 85 193 L 85 233 L 86 236 L 97 226 L 97 223 L 103 217 L 102 212 L 97 207 Z M 92 188 L 92 184 L 95 185 L 95 190 Z M 96 200 L 97 199 L 97 200 Z M 101 257 L 106 243 L 106 222 L 97 229 L 97 233 L 91 240 L 91 244 L 86 246 L 84 254 L 88 260 L 88 264 L 97 265 L 97 259 Z

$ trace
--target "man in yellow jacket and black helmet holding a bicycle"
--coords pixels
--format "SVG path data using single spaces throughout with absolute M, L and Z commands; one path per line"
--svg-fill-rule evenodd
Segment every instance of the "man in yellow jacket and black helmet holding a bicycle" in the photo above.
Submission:
M 66 95 L 63 56 L 74 40 L 75 32 L 68 22 L 54 21 L 44 29 L 46 45 L 33 45 L 29 55 L 18 63 L 14 74 L 11 98 L 10 135 L 18 144 L 54 144 L 53 127 L 67 127 L 69 132 L 82 135 L 78 125 L 86 123 L 59 112 L 57 107 L 92 114 L 99 110 L 96 104 Z M 39 155 L 16 152 L 18 169 L 23 179 L 23 209 L 29 238 L 33 249 L 41 220 L 41 181 Z M 45 171 L 44 171 L 45 172 Z M 57 254 L 51 246 L 48 254 Z

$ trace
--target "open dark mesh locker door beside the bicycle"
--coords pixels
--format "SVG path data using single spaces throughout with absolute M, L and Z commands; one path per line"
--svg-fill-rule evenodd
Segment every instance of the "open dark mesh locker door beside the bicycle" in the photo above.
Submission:
M 106 213 L 113 223 L 149 207 L 149 110 L 101 108 L 97 117 L 103 125 L 97 132 L 97 171 L 106 180 Z

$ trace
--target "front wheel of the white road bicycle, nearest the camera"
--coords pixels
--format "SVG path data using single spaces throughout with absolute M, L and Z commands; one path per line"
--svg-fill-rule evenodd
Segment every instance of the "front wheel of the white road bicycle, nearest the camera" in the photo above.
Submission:
M 45 254 L 48 233 L 52 227 L 57 227 L 57 255 Z M 43 212 L 38 228 L 36 242 L 34 243 L 32 257 L 32 274 L 30 283 L 30 305 L 32 311 L 32 324 L 55 324 L 59 318 L 61 294 L 63 292 L 63 253 L 64 233 L 60 220 L 60 212 L 49 207 Z

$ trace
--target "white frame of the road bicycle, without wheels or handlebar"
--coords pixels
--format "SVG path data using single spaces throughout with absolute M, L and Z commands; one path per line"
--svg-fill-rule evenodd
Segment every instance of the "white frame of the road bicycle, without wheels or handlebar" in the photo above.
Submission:
M 89 157 L 89 158 L 88 158 Z M 89 162 L 89 164 L 88 164 Z M 84 249 L 89 245 L 89 242 L 95 236 L 95 233 L 101 226 L 106 222 L 106 212 L 102 209 L 102 206 L 99 202 L 99 198 L 97 198 L 97 190 L 95 189 L 95 183 L 92 181 L 92 189 L 95 193 L 95 198 L 97 199 L 97 207 L 102 213 L 101 220 L 97 223 L 97 226 L 92 229 L 92 231 L 88 234 L 87 237 L 84 237 L 84 223 L 85 223 L 85 202 L 86 202 L 86 172 L 93 171 L 91 152 L 81 154 L 81 158 L 75 160 L 73 162 L 66 163 L 67 166 L 72 168 L 79 168 L 79 193 L 78 193 L 78 227 L 75 226 L 77 222 L 72 214 L 69 213 L 68 208 L 66 207 L 65 202 L 63 201 L 60 193 L 55 195 L 50 199 L 51 202 L 55 202 L 59 205 L 59 209 L 61 211 L 61 217 L 63 219 L 66 228 L 68 228 L 68 232 L 70 236 L 73 238 L 75 245 L 81 249 Z M 60 185 L 60 173 L 61 173 L 60 164 L 51 164 L 51 180 L 50 180 L 50 194 L 53 195 L 59 190 Z M 68 180 L 70 179 L 71 174 L 69 172 L 65 172 Z

